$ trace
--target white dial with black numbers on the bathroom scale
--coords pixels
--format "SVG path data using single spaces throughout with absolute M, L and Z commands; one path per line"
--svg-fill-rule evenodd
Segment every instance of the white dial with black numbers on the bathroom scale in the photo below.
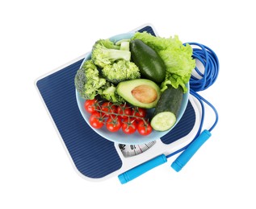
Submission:
M 120 144 L 119 148 L 120 148 L 122 154 L 124 155 L 124 158 L 130 158 L 130 157 L 136 156 L 138 154 L 144 153 L 146 150 L 149 150 L 155 143 L 156 143 L 156 141 L 151 141 L 149 143 L 142 144 L 142 145 Z

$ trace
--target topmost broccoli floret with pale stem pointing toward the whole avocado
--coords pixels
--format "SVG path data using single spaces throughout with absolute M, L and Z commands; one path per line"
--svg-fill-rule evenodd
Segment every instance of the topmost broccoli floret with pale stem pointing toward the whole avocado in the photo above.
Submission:
M 115 45 L 109 39 L 99 39 L 92 48 L 91 59 L 94 64 L 104 68 L 107 64 L 113 64 L 118 59 L 131 59 L 131 51 L 120 50 L 120 46 Z

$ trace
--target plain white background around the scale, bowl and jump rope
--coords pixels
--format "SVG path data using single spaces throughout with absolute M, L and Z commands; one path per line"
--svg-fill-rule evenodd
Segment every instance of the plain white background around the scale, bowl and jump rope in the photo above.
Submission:
M 255 208 L 252 2 L 1 1 L 0 208 Z M 202 95 L 220 121 L 179 173 L 170 168 L 175 156 L 125 185 L 117 177 L 86 181 L 73 170 L 34 80 L 95 40 L 145 23 L 216 52 L 220 75 Z

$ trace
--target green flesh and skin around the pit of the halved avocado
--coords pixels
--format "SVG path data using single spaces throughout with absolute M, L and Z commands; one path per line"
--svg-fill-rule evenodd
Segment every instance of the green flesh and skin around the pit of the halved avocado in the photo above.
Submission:
M 141 103 L 139 100 L 136 100 L 134 96 L 132 96 L 132 89 L 140 86 L 140 85 L 148 85 L 151 88 L 155 89 L 157 92 L 157 99 L 154 100 L 151 103 Z M 156 83 L 154 83 L 152 80 L 147 79 L 136 79 L 136 80 L 126 80 L 120 82 L 116 87 L 116 92 L 124 98 L 129 104 L 132 104 L 134 106 L 145 108 L 145 109 L 152 109 L 157 106 L 157 102 L 160 99 L 161 92 L 160 88 Z

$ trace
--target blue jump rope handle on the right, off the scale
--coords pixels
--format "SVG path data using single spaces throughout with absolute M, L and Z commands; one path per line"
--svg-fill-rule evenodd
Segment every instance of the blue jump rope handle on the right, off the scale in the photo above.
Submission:
M 188 145 L 187 149 L 183 151 L 182 154 L 178 156 L 178 158 L 171 164 L 171 167 L 176 170 L 182 170 L 183 166 L 187 164 L 187 162 L 193 157 L 197 150 L 204 144 L 205 141 L 211 137 L 212 133 L 208 130 L 204 130 L 199 137 L 197 137 L 194 141 Z

